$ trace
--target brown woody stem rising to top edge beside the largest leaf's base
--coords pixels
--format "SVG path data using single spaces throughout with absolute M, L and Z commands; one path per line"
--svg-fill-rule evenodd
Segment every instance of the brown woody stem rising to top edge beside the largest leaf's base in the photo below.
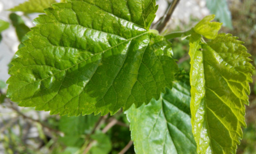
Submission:
M 159 33 L 162 33 L 162 31 L 164 30 L 164 28 L 166 27 L 167 22 L 169 21 L 170 17 L 172 17 L 172 14 L 175 10 L 175 8 L 177 7 L 178 3 L 180 2 L 180 0 L 174 0 L 172 5 L 170 5 L 168 13 L 166 14 L 165 18 L 162 20 L 162 22 L 160 22 L 159 27 L 157 28 L 157 30 L 159 31 Z

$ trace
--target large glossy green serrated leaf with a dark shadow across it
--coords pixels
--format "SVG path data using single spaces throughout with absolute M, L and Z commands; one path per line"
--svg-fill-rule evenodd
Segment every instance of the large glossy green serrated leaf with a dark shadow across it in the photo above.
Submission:
M 172 87 L 178 67 L 171 44 L 148 31 L 155 1 L 52 6 L 34 20 L 26 47 L 12 61 L 7 95 L 19 106 L 60 115 L 114 114 Z

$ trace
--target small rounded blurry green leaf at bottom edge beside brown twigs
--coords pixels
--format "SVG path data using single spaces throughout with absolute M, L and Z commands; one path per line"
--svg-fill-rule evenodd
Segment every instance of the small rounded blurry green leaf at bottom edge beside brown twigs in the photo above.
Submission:
M 112 149 L 111 140 L 103 133 L 96 133 L 91 136 L 93 140 L 92 148 L 88 151 L 89 154 L 108 154 Z

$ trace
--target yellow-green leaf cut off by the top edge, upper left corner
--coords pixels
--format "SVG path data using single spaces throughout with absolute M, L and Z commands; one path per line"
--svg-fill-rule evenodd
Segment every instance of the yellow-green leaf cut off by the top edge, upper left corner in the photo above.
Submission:
M 24 13 L 44 13 L 44 9 L 56 3 L 55 0 L 28 0 L 9 11 L 22 11 Z

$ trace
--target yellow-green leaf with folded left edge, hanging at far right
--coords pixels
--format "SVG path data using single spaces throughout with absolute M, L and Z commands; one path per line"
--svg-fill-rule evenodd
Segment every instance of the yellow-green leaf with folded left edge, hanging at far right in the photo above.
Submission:
M 237 39 L 219 34 L 205 44 L 191 34 L 191 122 L 198 153 L 236 153 L 240 144 L 252 65 Z

